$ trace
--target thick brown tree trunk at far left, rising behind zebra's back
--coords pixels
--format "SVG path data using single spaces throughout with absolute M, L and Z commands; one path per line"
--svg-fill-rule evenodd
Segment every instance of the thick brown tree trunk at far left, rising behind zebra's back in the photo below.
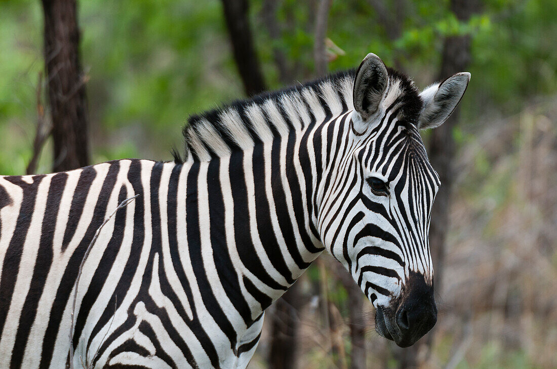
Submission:
M 42 0 L 55 172 L 89 165 L 87 99 L 75 0 Z

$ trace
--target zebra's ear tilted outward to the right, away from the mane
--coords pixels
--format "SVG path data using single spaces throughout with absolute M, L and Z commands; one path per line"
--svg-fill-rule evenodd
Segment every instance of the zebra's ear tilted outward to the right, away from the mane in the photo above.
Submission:
M 418 117 L 418 128 L 427 129 L 441 126 L 455 111 L 470 82 L 470 73 L 454 74 L 441 83 L 427 87 L 419 95 L 423 101 Z

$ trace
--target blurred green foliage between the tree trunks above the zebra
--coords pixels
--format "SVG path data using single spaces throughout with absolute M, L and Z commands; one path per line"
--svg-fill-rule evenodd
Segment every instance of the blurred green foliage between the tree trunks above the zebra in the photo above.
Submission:
M 333 2 L 327 36 L 344 54 L 336 53 L 329 68 L 353 68 L 375 52 L 424 86 L 437 77 L 443 38 L 471 34 L 472 83 L 463 101 L 468 121 L 492 106 L 517 111 L 530 96 L 555 93 L 557 3 L 490 0 L 468 22 L 458 21 L 448 3 L 420 0 L 395 9 L 395 2 L 386 1 L 392 19 L 400 21 L 399 37 L 390 39 L 368 1 Z M 281 87 L 275 51 L 284 53 L 292 82 L 312 78 L 316 2 L 282 1 L 276 14 L 281 34 L 274 40 L 262 22 L 262 0 L 250 4 L 268 86 Z M 182 145 L 180 127 L 189 114 L 242 97 L 220 1 L 81 0 L 79 6 L 95 159 L 169 159 L 169 148 Z M 0 168 L 16 174 L 31 156 L 36 122 L 43 69 L 40 2 L 0 3 L 0 47 L 0 145 L 15 146 L 2 150 Z M 40 167 L 48 170 L 48 160 L 45 153 Z

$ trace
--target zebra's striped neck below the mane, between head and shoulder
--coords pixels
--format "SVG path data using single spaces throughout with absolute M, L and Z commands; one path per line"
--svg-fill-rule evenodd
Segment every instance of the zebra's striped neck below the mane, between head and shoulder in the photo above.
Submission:
M 175 166 L 178 203 L 185 205 L 182 242 L 190 254 L 200 250 L 207 283 L 251 319 L 323 251 L 312 217 L 320 170 L 306 162 L 313 140 L 302 132 Z

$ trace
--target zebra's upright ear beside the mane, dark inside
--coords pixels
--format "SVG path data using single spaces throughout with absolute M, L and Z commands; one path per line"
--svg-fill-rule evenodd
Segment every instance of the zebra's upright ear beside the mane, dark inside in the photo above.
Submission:
M 354 109 L 367 121 L 383 99 L 389 82 L 387 67 L 375 54 L 369 53 L 361 62 L 354 78 Z

